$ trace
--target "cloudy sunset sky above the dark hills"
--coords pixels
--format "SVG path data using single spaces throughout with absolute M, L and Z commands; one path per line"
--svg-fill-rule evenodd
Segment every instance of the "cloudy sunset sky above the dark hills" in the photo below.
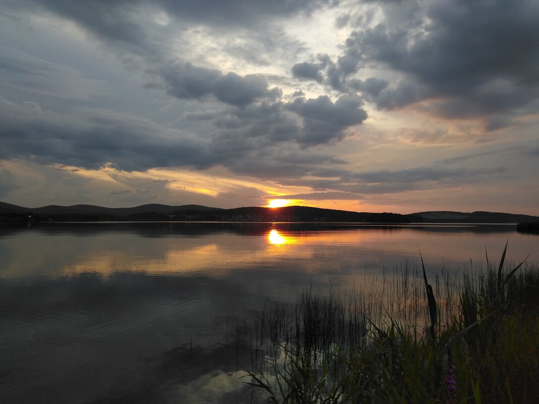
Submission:
M 539 215 L 536 0 L 3 0 L 0 201 Z

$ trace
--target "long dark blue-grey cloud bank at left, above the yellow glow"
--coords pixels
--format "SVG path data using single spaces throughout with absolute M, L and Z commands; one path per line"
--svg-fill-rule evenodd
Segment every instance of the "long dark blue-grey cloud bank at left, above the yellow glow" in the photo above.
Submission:
M 43 111 L 35 102 L 11 103 L 0 97 L 0 159 L 32 158 L 120 170 L 163 166 L 198 169 L 223 161 L 206 142 L 133 115 L 81 110 L 71 115 Z

